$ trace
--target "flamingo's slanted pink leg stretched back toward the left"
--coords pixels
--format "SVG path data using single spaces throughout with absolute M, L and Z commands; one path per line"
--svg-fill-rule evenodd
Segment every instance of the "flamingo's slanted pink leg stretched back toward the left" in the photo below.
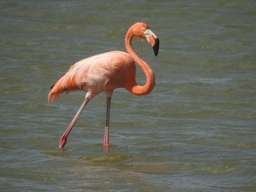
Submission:
M 74 124 L 77 122 L 77 119 L 81 115 L 83 109 L 86 107 L 88 102 L 89 102 L 89 99 L 84 99 L 84 102 L 81 105 L 81 107 L 79 108 L 77 114 L 73 118 L 72 122 L 68 125 L 67 130 L 64 132 L 61 139 L 59 140 L 59 148 L 63 148 L 64 145 L 67 143 L 67 137 L 68 137 L 69 133 L 71 132 L 72 128 L 74 127 Z

